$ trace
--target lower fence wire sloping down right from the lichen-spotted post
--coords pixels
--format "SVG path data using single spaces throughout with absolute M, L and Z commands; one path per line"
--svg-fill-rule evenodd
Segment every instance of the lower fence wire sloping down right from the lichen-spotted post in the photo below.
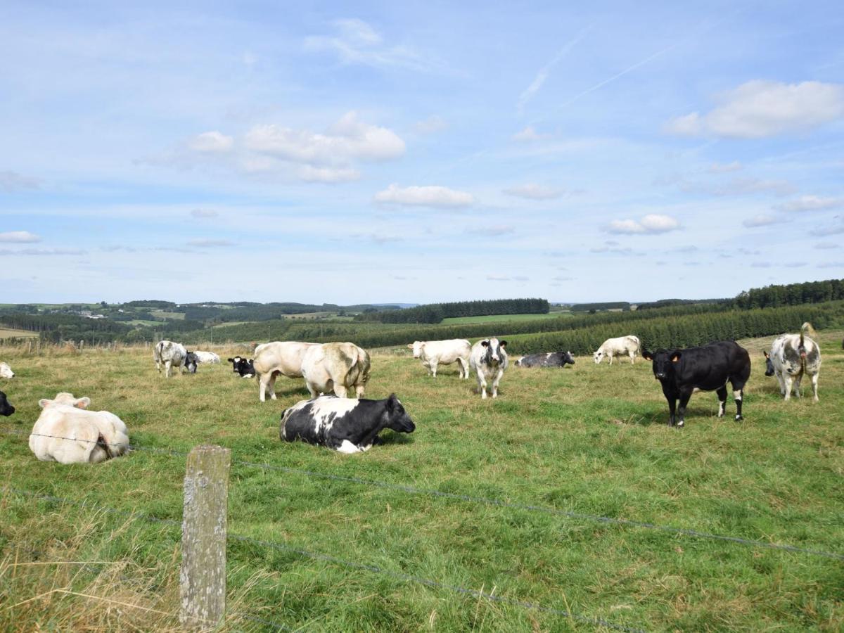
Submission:
M 384 576 L 392 576 L 401 581 L 405 582 L 416 582 L 420 585 L 425 585 L 425 587 L 435 587 L 438 589 L 448 589 L 452 592 L 463 593 L 468 596 L 473 596 L 473 598 L 484 598 L 486 600 L 490 600 L 496 603 L 502 604 L 510 604 L 511 606 L 522 607 L 523 609 L 532 609 L 534 611 L 541 611 L 543 613 L 549 614 L 556 614 L 561 615 L 565 618 L 574 619 L 578 622 L 582 622 L 584 624 L 591 624 L 591 625 L 598 625 L 598 626 L 605 626 L 609 629 L 614 630 L 624 630 L 624 631 L 637 631 L 641 632 L 642 629 L 636 629 L 626 625 L 619 625 L 614 622 L 610 622 L 609 620 L 602 619 L 602 618 L 590 618 L 586 615 L 580 614 L 573 614 L 571 611 L 565 611 L 563 609 L 554 609 L 552 607 L 544 607 L 541 604 L 537 603 L 530 603 L 523 600 L 516 600 L 514 598 L 506 598 L 505 596 L 496 596 L 492 593 L 479 591 L 478 589 L 469 589 L 468 587 L 460 587 L 459 585 L 449 585 L 444 582 L 436 582 L 432 581 L 428 578 L 423 578 L 420 576 L 412 576 L 410 574 L 404 574 L 400 571 L 390 571 L 386 570 L 383 567 L 379 567 L 378 565 L 365 565 L 363 563 L 354 563 L 350 560 L 343 560 L 337 558 L 336 556 L 330 556 L 327 554 L 317 554 L 315 552 L 309 552 L 306 549 L 299 549 L 296 547 L 292 547 L 285 544 L 280 543 L 273 543 L 272 541 L 264 541 L 258 538 L 250 538 L 247 536 L 241 536 L 240 534 L 229 534 L 229 538 L 233 538 L 238 541 L 242 541 L 245 543 L 255 544 L 255 545 L 262 545 L 263 547 L 268 547 L 271 549 L 279 549 L 280 551 L 290 552 L 293 554 L 298 554 L 301 556 L 306 556 L 307 558 L 311 558 L 314 560 L 322 560 L 327 563 L 332 563 L 333 565 L 341 565 L 344 567 L 349 567 L 352 569 L 360 569 L 364 571 L 371 571 L 376 574 L 383 574 Z

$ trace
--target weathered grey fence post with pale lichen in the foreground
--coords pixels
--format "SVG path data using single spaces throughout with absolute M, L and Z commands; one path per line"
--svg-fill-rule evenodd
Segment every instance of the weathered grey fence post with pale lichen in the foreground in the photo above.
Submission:
M 225 614 L 225 535 L 231 451 L 197 446 L 187 456 L 181 522 L 181 625 L 214 629 Z

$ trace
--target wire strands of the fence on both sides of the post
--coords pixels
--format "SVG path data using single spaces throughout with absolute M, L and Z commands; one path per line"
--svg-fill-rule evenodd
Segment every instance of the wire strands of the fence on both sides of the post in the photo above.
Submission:
M 125 446 L 132 452 L 152 452 L 155 454 L 162 454 L 168 457 L 185 457 L 187 456 L 188 452 L 174 450 L 171 448 L 160 448 L 158 446 L 140 446 L 138 444 L 125 444 L 125 443 L 112 443 L 112 444 L 105 444 L 100 438 L 98 441 L 91 441 L 86 439 L 78 439 L 69 436 L 55 436 L 50 434 L 33 434 L 26 432 L 25 430 L 21 429 L 0 429 L 0 433 L 8 434 L 8 435 L 18 435 L 18 436 L 38 436 L 38 437 L 46 437 L 51 439 L 57 440 L 66 440 L 66 441 L 82 441 L 82 442 L 89 442 L 89 443 L 97 443 L 100 445 L 106 446 Z M 760 541 L 750 538 L 741 538 L 741 537 L 734 537 L 724 534 L 717 534 L 717 533 L 707 533 L 705 531 L 692 529 L 692 528 L 684 528 L 684 527 L 675 527 L 675 526 L 665 526 L 665 525 L 658 525 L 651 522 L 641 522 L 635 521 L 630 519 L 618 518 L 618 517 L 604 517 L 597 514 L 589 514 L 583 512 L 575 512 L 575 511 L 565 511 L 560 510 L 558 508 L 549 507 L 549 506 L 537 506 L 533 504 L 522 503 L 518 501 L 509 501 L 509 500 L 502 500 L 496 499 L 493 497 L 484 497 L 484 496 L 477 496 L 477 495 L 462 495 L 458 493 L 452 492 L 445 492 L 441 490 L 430 490 L 425 488 L 415 487 L 413 485 L 408 484 L 397 484 L 392 482 L 380 481 L 376 479 L 363 479 L 359 477 L 349 476 L 349 475 L 338 475 L 333 473 L 320 473 L 317 471 L 307 470 L 303 468 L 290 468 L 284 466 L 278 466 L 275 464 L 270 463 L 257 463 L 257 462 L 249 462 L 245 460 L 234 460 L 233 464 L 245 468 L 260 468 L 265 471 L 273 471 L 273 472 L 281 472 L 281 473 L 290 473 L 290 474 L 298 474 L 304 477 L 309 478 L 318 478 L 318 479 L 328 479 L 328 480 L 336 480 L 344 483 L 353 483 L 353 484 L 360 484 L 365 486 L 371 486 L 380 488 L 383 490 L 396 490 L 408 495 L 427 495 L 432 498 L 439 498 L 445 500 L 458 500 L 462 502 L 474 503 L 474 504 L 483 504 L 487 506 L 496 506 L 496 507 L 503 507 L 509 508 L 519 511 L 533 511 L 533 512 L 540 512 L 544 514 L 555 515 L 559 517 L 566 517 L 576 520 L 582 521 L 590 521 L 590 522 L 598 522 L 603 524 L 609 525 L 617 525 L 620 527 L 630 527 L 630 528 L 641 528 L 641 529 L 649 529 L 649 530 L 656 530 L 663 533 L 673 533 L 676 535 L 684 536 L 684 537 L 691 537 L 691 538 L 706 538 L 712 540 L 718 540 L 722 542 L 727 542 L 731 544 L 739 544 L 746 547 L 751 548 L 764 548 L 764 549 L 774 549 L 780 551 L 791 552 L 795 554 L 803 554 L 803 555 L 814 555 L 814 556 L 821 556 L 833 560 L 844 560 L 844 554 L 839 554 L 836 552 L 825 551 L 822 549 L 811 549 L 805 547 L 799 547 L 791 544 L 779 544 L 779 543 L 771 543 L 768 541 Z M 104 511 L 112 514 L 132 517 L 133 520 L 149 522 L 149 523 L 156 523 L 165 525 L 167 527 L 181 527 L 181 521 L 176 521 L 174 519 L 168 519 L 163 517 L 154 517 L 149 514 L 144 514 L 138 511 L 126 511 L 126 510 L 119 510 L 116 508 L 112 508 L 109 506 L 101 506 L 99 504 L 95 504 L 90 502 L 89 500 L 71 500 L 66 499 L 63 497 L 45 494 L 43 492 L 36 492 L 33 490 L 21 490 L 11 486 L 0 487 L 0 490 L 3 490 L 7 493 L 12 493 L 15 495 L 24 495 L 29 496 L 30 498 L 35 498 L 39 500 L 46 500 L 56 503 L 68 504 L 70 506 L 78 506 L 78 507 L 88 507 L 91 509 L 95 509 L 98 511 Z M 320 560 L 322 562 L 326 562 L 330 565 L 338 565 L 349 569 L 359 570 L 359 571 L 367 571 L 374 574 L 379 574 L 382 576 L 389 576 L 395 580 L 401 582 L 413 582 L 425 587 L 432 587 L 440 590 L 454 592 L 463 596 L 471 596 L 473 598 L 484 599 L 489 601 L 490 603 L 500 603 L 506 604 L 514 607 L 519 607 L 522 609 L 531 609 L 533 611 L 547 613 L 547 614 L 554 614 L 566 619 L 571 619 L 572 621 L 576 621 L 578 623 L 587 624 L 587 625 L 594 625 L 594 626 L 603 626 L 605 628 L 613 629 L 613 630 L 623 630 L 623 631 L 634 631 L 634 630 L 641 630 L 635 627 L 631 627 L 629 625 L 619 624 L 616 622 L 612 622 L 610 620 L 601 619 L 590 617 L 583 614 L 576 614 L 571 612 L 568 609 L 556 609 L 554 607 L 544 606 L 539 603 L 534 603 L 531 601 L 520 600 L 517 598 L 509 598 L 506 596 L 496 595 L 493 592 L 484 592 L 483 589 L 473 589 L 471 587 L 462 587 L 459 585 L 448 584 L 444 582 L 438 582 L 436 580 L 432 580 L 430 578 L 425 578 L 422 576 L 414 576 L 411 574 L 406 574 L 400 571 L 392 571 L 387 568 L 378 566 L 378 565 L 368 565 L 365 563 L 354 562 L 350 560 L 344 560 L 338 558 L 333 555 L 327 555 L 320 552 L 313 552 L 308 549 L 301 548 L 296 544 L 291 544 L 289 542 L 274 542 L 269 540 L 263 540 L 261 538 L 253 538 L 250 536 L 246 536 L 243 534 L 236 534 L 230 533 L 228 538 L 246 543 L 252 544 L 262 548 L 269 548 L 269 549 L 276 549 L 279 551 L 284 551 L 289 554 L 300 555 L 302 557 L 309 558 L 311 560 Z M 252 620 L 256 623 L 261 623 L 263 625 L 271 625 L 276 630 L 294 630 L 291 629 L 288 625 L 281 624 L 279 622 L 273 622 L 268 619 L 262 619 L 257 617 L 253 614 L 238 614 L 243 619 Z

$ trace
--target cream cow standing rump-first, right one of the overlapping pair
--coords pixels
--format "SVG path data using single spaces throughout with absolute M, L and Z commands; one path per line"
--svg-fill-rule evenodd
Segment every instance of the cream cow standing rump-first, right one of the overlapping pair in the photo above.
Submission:
M 345 398 L 352 387 L 354 395 L 362 398 L 369 375 L 369 354 L 354 343 L 311 345 L 302 359 L 302 376 L 311 398 L 331 392 Z

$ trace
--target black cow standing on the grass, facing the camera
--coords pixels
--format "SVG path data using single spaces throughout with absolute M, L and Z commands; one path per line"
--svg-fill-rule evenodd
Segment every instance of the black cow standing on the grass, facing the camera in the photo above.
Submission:
M 736 402 L 736 419 L 744 419 L 741 403 L 744 385 L 750 376 L 750 356 L 747 349 L 735 341 L 717 341 L 702 347 L 687 349 L 657 349 L 648 352 L 642 349 L 641 357 L 653 361 L 653 375 L 663 385 L 668 411 L 668 424 L 674 426 L 674 409 L 679 398 L 678 426 L 685 424 L 685 408 L 691 394 L 697 390 L 716 392 L 718 396 L 718 417 L 723 417 L 727 405 L 727 382 L 733 386 Z

